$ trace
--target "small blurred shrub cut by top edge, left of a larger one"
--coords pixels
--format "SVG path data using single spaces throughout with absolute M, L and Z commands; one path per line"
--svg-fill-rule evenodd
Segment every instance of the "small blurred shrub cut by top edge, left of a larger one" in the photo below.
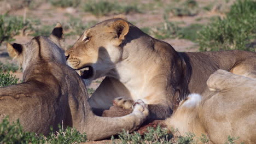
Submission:
M 77 7 L 80 4 L 80 0 L 50 0 L 50 3 L 55 7 Z

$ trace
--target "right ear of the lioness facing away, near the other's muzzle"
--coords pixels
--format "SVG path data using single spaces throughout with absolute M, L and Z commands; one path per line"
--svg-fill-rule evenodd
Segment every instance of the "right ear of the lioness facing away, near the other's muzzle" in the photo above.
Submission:
M 63 28 L 60 23 L 57 23 L 57 25 L 54 27 L 53 31 L 51 32 L 50 38 L 55 44 L 62 48 L 62 43 L 64 43 L 64 34 Z

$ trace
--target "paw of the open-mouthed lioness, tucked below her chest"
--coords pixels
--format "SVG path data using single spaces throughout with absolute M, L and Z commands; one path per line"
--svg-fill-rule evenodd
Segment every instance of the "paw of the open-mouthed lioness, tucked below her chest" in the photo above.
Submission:
M 113 100 L 113 105 L 123 107 L 123 109 L 131 109 L 133 100 L 125 97 L 115 98 Z

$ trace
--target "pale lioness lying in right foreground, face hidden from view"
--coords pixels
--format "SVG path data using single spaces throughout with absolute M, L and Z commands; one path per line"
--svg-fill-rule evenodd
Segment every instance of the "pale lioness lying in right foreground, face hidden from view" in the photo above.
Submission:
M 225 143 L 228 136 L 236 143 L 256 143 L 256 79 L 218 70 L 207 80 L 210 95 L 191 94 L 166 120 L 169 129 L 181 135 L 207 135 L 213 143 Z

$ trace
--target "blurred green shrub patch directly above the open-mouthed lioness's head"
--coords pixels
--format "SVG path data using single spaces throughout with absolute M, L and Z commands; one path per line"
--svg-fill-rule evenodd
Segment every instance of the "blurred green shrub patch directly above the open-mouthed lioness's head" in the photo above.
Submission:
M 90 12 L 96 16 L 110 14 L 128 14 L 142 13 L 137 4 L 119 4 L 118 2 L 109 1 L 87 1 L 83 6 L 84 11 Z

